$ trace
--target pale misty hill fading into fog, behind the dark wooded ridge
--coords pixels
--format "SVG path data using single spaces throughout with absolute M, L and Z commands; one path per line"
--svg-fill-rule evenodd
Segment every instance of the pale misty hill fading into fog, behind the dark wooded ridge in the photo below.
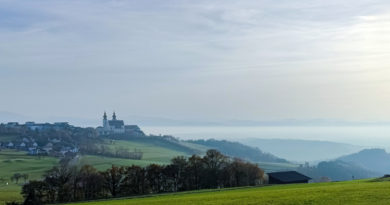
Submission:
M 363 149 L 350 144 L 315 140 L 249 138 L 240 142 L 297 162 L 330 160 Z

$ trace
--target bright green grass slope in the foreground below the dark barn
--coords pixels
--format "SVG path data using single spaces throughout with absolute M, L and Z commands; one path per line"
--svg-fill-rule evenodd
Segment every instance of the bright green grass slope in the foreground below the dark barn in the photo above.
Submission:
M 358 180 L 255 188 L 205 190 L 76 203 L 80 205 L 131 204 L 390 204 L 390 182 Z

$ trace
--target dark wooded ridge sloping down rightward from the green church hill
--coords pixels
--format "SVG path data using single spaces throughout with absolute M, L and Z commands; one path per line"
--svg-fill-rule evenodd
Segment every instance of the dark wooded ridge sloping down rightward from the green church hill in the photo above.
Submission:
M 276 157 L 269 153 L 265 153 L 258 148 L 250 147 L 238 142 L 231 142 L 226 140 L 214 140 L 214 139 L 188 140 L 187 142 L 217 149 L 225 155 L 241 158 L 252 162 L 280 162 L 280 163 L 288 162 L 285 159 Z

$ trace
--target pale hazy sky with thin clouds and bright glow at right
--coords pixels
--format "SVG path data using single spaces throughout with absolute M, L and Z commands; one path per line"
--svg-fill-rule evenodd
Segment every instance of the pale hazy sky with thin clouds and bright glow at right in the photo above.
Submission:
M 389 121 L 390 1 L 0 0 L 0 88 L 33 119 Z

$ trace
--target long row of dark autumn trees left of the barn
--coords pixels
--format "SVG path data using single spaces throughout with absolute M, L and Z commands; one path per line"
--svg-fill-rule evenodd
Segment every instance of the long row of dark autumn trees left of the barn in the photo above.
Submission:
M 252 186 L 263 182 L 256 164 L 231 159 L 217 150 L 200 157 L 173 158 L 169 165 L 112 166 L 106 171 L 62 164 L 43 180 L 25 184 L 25 204 L 56 203 L 107 197 L 176 192 L 206 188 Z

